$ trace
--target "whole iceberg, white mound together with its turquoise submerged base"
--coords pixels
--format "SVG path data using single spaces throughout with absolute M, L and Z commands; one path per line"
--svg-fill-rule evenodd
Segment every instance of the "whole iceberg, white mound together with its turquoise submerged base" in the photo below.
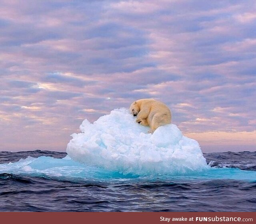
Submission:
M 175 124 L 153 134 L 136 123 L 129 110 L 115 109 L 93 123 L 84 120 L 72 134 L 64 158 L 28 156 L 0 164 L 0 174 L 39 176 L 68 181 L 154 182 L 202 179 L 255 181 L 255 171 L 206 164 L 198 142 Z

